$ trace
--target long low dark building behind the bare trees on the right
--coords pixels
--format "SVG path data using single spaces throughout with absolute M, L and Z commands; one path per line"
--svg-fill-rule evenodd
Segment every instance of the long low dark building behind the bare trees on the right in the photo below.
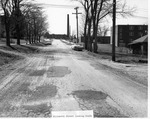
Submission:
M 84 42 L 84 37 L 81 37 L 81 42 Z M 110 36 L 98 36 L 97 43 L 110 44 Z

